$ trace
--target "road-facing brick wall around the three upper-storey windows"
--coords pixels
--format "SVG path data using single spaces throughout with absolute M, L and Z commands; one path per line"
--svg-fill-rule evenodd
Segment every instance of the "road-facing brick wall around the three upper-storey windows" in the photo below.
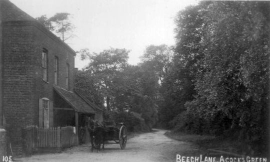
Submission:
M 48 78 L 47 82 L 42 79 L 42 49 L 45 48 L 48 54 Z M 73 54 L 66 49 L 61 42 L 49 33 L 44 32 L 42 28 L 34 27 L 33 29 L 33 49 L 34 49 L 34 105 L 35 113 L 38 113 L 38 99 L 48 98 L 53 101 L 55 96 L 53 93 L 54 84 L 54 59 L 58 58 L 58 84 L 62 88 L 66 88 L 66 64 L 69 64 L 69 90 L 73 90 L 74 80 L 74 57 Z M 35 123 L 38 123 L 38 115 L 35 115 Z

